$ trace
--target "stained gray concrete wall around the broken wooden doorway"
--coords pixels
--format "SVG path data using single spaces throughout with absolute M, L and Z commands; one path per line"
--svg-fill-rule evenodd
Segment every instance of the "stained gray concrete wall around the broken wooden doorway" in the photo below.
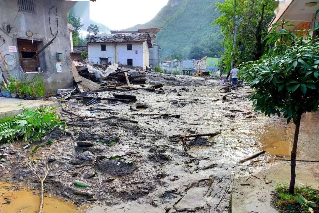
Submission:
M 11 27 L 14 27 L 12 32 L 8 34 L 0 30 L 0 51 L 3 55 L 10 55 L 6 56 L 12 59 L 8 61 L 7 67 L 11 75 L 19 77 L 19 50 L 17 53 L 9 52 L 8 46 L 17 46 L 17 38 L 31 40 L 32 38 L 26 36 L 26 32 L 31 31 L 34 34 L 33 40 L 41 41 L 38 48 L 40 49 L 54 37 L 50 32 L 50 27 L 53 34 L 58 32 L 54 42 L 39 55 L 40 67 L 44 72 L 46 92 L 56 93 L 56 89 L 68 88 L 73 84 L 70 58 L 70 35 L 66 20 L 67 11 L 70 7 L 66 6 L 67 3 L 65 3 L 64 0 L 33 1 L 35 2 L 35 14 L 19 11 L 18 0 L 0 1 L 0 26 L 3 22 L 8 22 Z M 54 6 L 57 7 L 58 17 L 56 16 Z M 49 23 L 50 8 L 52 8 L 50 10 L 51 24 Z M 58 23 L 56 23 L 56 18 Z M 62 60 L 56 60 L 56 52 L 62 53 Z M 56 71 L 56 62 L 62 64 L 62 72 Z M 3 68 L 3 63 L 1 63 L 1 67 Z M 36 73 L 27 73 L 26 75 L 29 79 L 32 79 L 35 74 Z

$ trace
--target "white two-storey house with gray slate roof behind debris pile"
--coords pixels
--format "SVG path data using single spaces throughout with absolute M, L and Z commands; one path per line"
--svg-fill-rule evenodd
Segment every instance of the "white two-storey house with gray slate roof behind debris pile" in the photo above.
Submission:
M 149 67 L 152 39 L 148 33 L 97 34 L 87 42 L 89 62 Z

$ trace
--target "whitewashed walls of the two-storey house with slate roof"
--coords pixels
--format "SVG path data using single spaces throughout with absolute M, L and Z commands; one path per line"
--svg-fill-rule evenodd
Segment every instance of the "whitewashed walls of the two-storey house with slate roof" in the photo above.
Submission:
M 127 65 L 127 59 L 133 59 L 134 67 L 144 67 L 148 65 L 147 43 L 132 43 L 132 50 L 127 50 L 127 43 L 106 43 L 106 51 L 101 51 L 101 44 L 88 44 L 89 62 L 100 63 L 100 58 L 108 58 L 109 62 Z M 145 47 L 146 45 L 146 47 Z M 116 48 L 115 48 L 116 46 Z M 147 48 L 147 49 L 146 49 Z M 147 63 L 144 62 L 147 59 Z

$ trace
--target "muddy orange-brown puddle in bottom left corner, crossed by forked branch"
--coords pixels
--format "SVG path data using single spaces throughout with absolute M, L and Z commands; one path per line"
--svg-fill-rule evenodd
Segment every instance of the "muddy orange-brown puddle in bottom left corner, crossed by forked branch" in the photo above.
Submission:
M 0 197 L 0 212 L 5 213 L 31 213 L 38 212 L 40 204 L 39 191 L 20 189 L 15 191 L 16 186 L 8 183 L 0 183 L 0 194 L 10 199 L 11 203 L 6 203 L 4 198 Z M 44 213 L 80 213 L 72 203 L 65 202 L 58 197 L 44 197 Z

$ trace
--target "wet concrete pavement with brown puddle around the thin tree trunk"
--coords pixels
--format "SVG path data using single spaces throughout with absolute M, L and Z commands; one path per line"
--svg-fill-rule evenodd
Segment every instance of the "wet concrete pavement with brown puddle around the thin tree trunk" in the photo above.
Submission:
M 307 112 L 302 116 L 297 160 L 319 161 L 318 121 L 318 112 Z M 278 124 L 277 131 L 267 129 L 263 133 L 261 143 L 264 149 L 272 154 L 271 162 L 267 164 L 256 162 L 255 165 L 248 162 L 246 167 L 236 172 L 232 199 L 233 212 L 278 212 L 271 205 L 270 194 L 277 184 L 289 183 L 290 162 L 273 159 L 290 159 L 294 128 L 293 124 L 289 126 Z M 267 142 L 265 138 L 268 139 Z M 307 185 L 318 190 L 318 165 L 318 162 L 297 162 L 295 184 Z

